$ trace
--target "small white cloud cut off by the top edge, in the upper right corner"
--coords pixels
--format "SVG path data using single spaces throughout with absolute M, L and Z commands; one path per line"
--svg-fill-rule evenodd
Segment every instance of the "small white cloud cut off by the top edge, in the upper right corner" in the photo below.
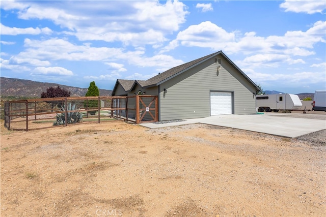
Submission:
M 284 8 L 285 12 L 290 11 L 307 14 L 322 13 L 326 8 L 326 2 L 324 0 L 285 0 L 285 2 L 280 5 L 280 8 Z

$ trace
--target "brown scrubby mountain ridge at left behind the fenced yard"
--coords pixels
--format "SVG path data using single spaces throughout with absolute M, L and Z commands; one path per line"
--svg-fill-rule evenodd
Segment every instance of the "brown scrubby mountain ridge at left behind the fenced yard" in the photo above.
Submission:
M 56 83 L 46 83 L 17 78 L 0 77 L 1 96 L 11 97 L 41 97 L 49 87 L 60 86 L 71 92 L 71 97 L 84 97 L 88 88 L 66 86 Z M 99 89 L 100 96 L 111 96 L 112 90 Z

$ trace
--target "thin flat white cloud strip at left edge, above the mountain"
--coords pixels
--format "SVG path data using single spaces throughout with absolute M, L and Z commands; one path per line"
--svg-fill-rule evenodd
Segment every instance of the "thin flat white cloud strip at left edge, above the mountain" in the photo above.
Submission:
M 1 23 L 1 35 L 10 35 L 10 36 L 17 36 L 17 35 L 39 35 L 39 34 L 46 34 L 49 35 L 52 33 L 52 30 L 48 27 L 45 28 L 16 28 L 16 27 L 8 27 Z

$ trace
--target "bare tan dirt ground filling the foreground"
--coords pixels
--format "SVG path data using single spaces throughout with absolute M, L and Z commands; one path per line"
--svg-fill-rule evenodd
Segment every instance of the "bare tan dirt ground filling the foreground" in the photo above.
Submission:
M 1 124 L 1 216 L 326 216 L 326 146 L 310 140 L 208 125 Z

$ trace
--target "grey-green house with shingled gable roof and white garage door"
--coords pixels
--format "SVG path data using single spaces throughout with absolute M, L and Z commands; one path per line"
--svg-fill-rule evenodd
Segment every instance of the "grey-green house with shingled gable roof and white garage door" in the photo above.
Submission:
M 118 79 L 112 96 L 158 96 L 158 120 L 256 113 L 260 88 L 222 51 L 148 80 Z

